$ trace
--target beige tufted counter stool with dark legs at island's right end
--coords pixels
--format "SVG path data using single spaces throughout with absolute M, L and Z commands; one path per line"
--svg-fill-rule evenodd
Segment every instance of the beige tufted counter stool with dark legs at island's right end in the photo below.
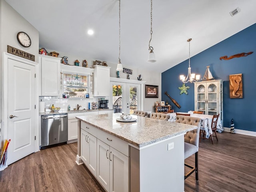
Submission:
M 198 127 L 197 129 L 186 132 L 184 136 L 184 160 L 195 154 L 195 166 L 184 163 L 186 167 L 191 169 L 184 175 L 184 180 L 188 178 L 188 176 L 190 176 L 193 172 L 195 172 L 196 180 L 198 181 L 198 145 L 201 118 L 179 115 L 176 116 L 175 122 L 196 125 Z

